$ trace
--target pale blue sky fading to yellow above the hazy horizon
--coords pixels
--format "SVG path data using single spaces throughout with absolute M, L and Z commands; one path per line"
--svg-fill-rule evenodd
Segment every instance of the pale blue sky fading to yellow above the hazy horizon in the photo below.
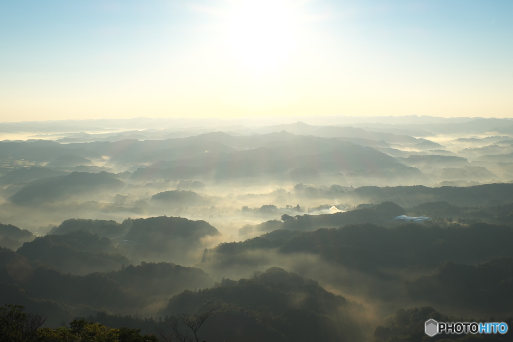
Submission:
M 510 0 L 0 2 L 0 122 L 513 117 Z

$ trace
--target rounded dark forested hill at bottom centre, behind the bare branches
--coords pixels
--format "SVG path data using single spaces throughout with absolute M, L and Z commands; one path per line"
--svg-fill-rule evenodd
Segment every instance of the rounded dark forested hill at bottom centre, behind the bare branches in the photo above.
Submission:
M 252 279 L 223 280 L 214 288 L 173 296 L 163 315 L 215 309 L 202 326 L 211 340 L 359 341 L 358 306 L 314 281 L 272 268 Z M 236 327 L 227 329 L 227 327 Z

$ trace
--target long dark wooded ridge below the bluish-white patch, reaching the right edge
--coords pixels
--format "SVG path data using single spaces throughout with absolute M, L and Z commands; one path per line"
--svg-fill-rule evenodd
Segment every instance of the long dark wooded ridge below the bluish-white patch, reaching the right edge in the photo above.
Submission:
M 330 216 L 334 215 L 337 214 Z M 380 267 L 406 268 L 449 259 L 473 263 L 513 255 L 511 239 L 513 228 L 484 223 L 468 227 L 455 224 L 444 229 L 426 224 L 393 228 L 360 224 L 313 232 L 274 232 L 240 243 L 221 244 L 214 251 L 218 253 L 215 262 L 219 267 L 225 261 L 237 263 L 237 253 L 278 248 L 283 254 L 318 254 L 346 267 L 369 272 Z

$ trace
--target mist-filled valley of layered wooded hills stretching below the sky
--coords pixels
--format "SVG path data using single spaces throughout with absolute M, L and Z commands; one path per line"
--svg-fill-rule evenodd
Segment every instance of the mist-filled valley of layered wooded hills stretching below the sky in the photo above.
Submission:
M 46 318 L 30 340 L 512 340 L 424 332 L 513 328 L 512 119 L 60 120 L 0 138 L 0 325 Z

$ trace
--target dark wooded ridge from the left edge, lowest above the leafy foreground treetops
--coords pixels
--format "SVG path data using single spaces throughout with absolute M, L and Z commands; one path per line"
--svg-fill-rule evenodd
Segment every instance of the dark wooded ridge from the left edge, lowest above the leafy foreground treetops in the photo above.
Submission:
M 0 250 L 0 261 L 3 262 L 0 265 L 3 300 L 17 298 L 17 303 L 26 305 L 30 310 L 40 307 L 34 301 L 55 301 L 66 305 L 67 310 L 75 315 L 80 314 L 79 309 L 84 306 L 89 308 L 85 312 L 105 308 L 112 312 L 131 313 L 185 289 L 212 284 L 200 269 L 167 263 L 142 263 L 119 271 L 76 276 L 41 267 L 5 249 Z M 71 313 L 65 315 L 66 320 L 69 315 Z M 63 314 L 55 316 L 62 317 Z

